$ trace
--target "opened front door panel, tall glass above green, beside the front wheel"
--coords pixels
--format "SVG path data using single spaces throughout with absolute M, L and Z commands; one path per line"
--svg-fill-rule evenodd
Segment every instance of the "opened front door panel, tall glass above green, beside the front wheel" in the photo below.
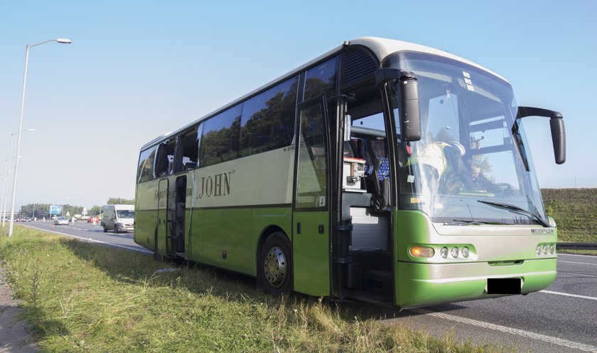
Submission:
M 325 95 L 299 105 L 293 211 L 294 290 L 330 295 L 330 198 Z

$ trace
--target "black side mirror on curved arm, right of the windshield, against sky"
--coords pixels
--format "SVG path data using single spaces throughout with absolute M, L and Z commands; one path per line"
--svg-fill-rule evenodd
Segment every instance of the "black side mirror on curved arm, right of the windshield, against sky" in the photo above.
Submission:
M 563 164 L 566 162 L 566 129 L 564 128 L 564 117 L 562 117 L 561 113 L 536 107 L 518 107 L 516 120 L 529 116 L 549 117 L 549 127 L 551 127 L 552 130 L 552 143 L 554 144 L 556 164 Z M 514 126 L 512 126 L 512 135 L 517 136 L 517 134 L 518 124 L 515 123 Z M 519 143 L 517 139 L 515 139 L 515 142 L 517 144 Z

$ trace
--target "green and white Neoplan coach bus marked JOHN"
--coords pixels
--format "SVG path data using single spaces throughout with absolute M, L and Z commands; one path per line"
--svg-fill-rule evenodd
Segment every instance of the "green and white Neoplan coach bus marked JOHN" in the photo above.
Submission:
M 269 293 L 416 307 L 547 288 L 544 211 L 507 81 L 403 41 L 346 41 L 141 147 L 134 240 Z

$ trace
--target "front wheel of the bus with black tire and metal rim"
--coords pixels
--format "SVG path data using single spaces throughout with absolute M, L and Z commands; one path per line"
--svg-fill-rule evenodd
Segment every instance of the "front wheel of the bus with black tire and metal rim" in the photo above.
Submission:
M 272 233 L 263 244 L 257 264 L 257 278 L 267 293 L 292 291 L 292 253 L 284 233 Z

